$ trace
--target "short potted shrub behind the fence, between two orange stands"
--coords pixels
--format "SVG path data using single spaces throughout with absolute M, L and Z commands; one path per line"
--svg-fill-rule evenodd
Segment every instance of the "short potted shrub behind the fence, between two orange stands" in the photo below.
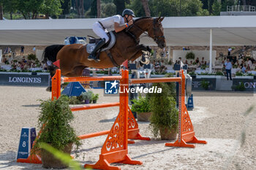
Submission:
M 138 99 L 132 99 L 131 110 L 132 112 L 137 112 L 137 119 L 138 121 L 148 122 L 149 117 L 151 116 L 151 109 L 149 105 L 149 98 L 139 96 Z

